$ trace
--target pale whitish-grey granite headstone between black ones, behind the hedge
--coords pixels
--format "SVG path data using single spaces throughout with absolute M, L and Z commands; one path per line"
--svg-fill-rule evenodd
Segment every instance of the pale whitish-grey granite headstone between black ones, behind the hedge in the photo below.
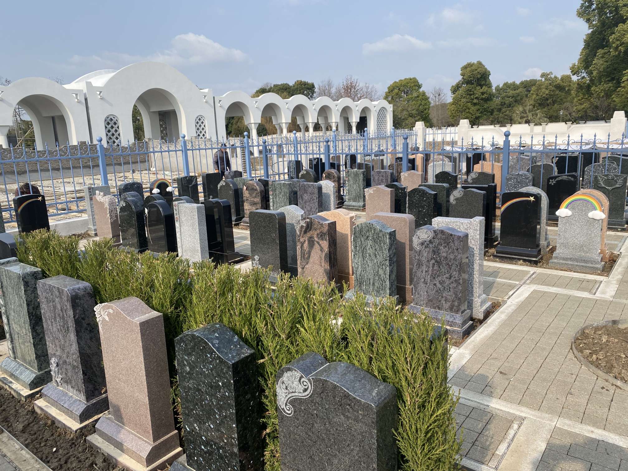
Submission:
M 179 256 L 185 257 L 191 262 L 199 262 L 209 258 L 209 244 L 207 237 L 207 223 L 205 221 L 205 206 L 179 203 L 178 208 L 178 234 L 177 240 L 181 241 Z

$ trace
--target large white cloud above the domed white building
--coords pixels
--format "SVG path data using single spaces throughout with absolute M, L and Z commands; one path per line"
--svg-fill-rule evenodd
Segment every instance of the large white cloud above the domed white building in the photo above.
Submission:
M 247 55 L 239 49 L 227 48 L 205 35 L 186 33 L 175 36 L 170 41 L 171 47 L 149 55 L 133 55 L 120 52 L 105 51 L 99 55 L 70 58 L 70 64 L 90 65 L 92 68 L 118 68 L 143 60 L 165 62 L 173 66 L 198 65 L 212 62 L 244 62 Z

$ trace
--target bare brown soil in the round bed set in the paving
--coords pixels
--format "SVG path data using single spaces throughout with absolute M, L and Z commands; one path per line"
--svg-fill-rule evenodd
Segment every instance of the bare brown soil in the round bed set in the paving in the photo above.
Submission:
M 628 383 L 628 327 L 592 327 L 576 337 L 576 349 L 590 364 Z

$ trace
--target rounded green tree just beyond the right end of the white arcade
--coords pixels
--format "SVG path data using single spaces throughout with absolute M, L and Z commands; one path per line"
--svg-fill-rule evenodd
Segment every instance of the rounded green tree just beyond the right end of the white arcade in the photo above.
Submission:
M 388 86 L 384 100 L 393 105 L 393 126 L 400 129 L 414 127 L 417 121 L 431 126 L 430 99 L 416 77 L 401 78 Z

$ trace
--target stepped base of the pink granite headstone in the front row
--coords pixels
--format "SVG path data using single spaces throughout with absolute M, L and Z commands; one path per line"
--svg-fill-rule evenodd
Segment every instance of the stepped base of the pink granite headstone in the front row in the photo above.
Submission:
M 183 454 L 176 430 L 151 443 L 118 423 L 109 413 L 99 419 L 95 430 L 93 435 L 87 437 L 87 441 L 126 469 L 157 469 Z

